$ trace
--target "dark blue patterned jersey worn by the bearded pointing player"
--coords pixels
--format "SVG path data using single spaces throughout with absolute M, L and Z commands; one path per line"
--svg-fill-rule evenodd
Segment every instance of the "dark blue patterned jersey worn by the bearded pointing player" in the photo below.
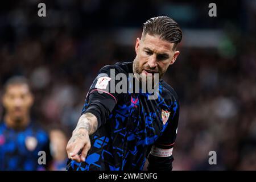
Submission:
M 129 79 L 133 62 L 107 65 L 98 73 L 82 110 L 97 117 L 98 129 L 90 136 L 92 147 L 85 162 L 70 160 L 69 170 L 142 170 L 151 148 L 172 151 L 179 118 L 174 89 L 160 80 L 156 100 L 148 99 L 148 93 L 129 92 L 129 86 L 127 93 L 110 92 L 111 69 Z M 114 84 L 118 82 L 115 79 Z

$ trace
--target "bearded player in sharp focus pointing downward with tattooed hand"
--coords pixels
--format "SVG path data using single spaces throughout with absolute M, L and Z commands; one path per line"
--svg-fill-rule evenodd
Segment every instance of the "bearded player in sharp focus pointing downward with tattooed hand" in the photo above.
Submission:
M 176 48 L 181 38 L 182 31 L 173 19 L 151 18 L 143 24 L 141 39 L 137 38 L 134 61 L 100 69 L 67 144 L 67 169 L 142 170 L 148 159 L 148 170 L 172 170 L 179 102 L 162 77 L 180 53 Z M 119 85 L 118 73 L 127 76 L 126 93 L 110 92 L 113 81 L 114 87 Z M 134 85 L 128 77 L 131 73 L 141 85 L 145 84 L 143 77 L 154 80 L 159 74 L 159 80 L 154 80 L 158 97 L 149 99 L 151 94 L 141 89 L 130 92 Z

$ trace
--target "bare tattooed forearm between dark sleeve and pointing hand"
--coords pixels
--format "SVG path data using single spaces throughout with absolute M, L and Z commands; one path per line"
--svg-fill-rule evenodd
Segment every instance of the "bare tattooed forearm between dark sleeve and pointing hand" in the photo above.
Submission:
M 85 113 L 82 114 L 79 118 L 79 122 L 77 123 L 76 129 L 73 131 L 73 133 L 76 133 L 80 129 L 85 129 L 88 131 L 89 135 L 92 135 L 98 127 L 98 121 L 95 115 L 92 113 Z

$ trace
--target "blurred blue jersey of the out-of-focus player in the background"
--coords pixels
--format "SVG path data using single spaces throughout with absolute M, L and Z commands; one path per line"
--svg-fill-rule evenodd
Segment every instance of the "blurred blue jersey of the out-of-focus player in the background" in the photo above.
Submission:
M 49 138 L 39 127 L 30 124 L 24 130 L 10 129 L 3 122 L 0 125 L 0 170 L 44 170 L 46 165 L 38 159 L 46 152 L 46 165 L 51 160 Z M 43 159 L 40 160 L 43 162 Z

